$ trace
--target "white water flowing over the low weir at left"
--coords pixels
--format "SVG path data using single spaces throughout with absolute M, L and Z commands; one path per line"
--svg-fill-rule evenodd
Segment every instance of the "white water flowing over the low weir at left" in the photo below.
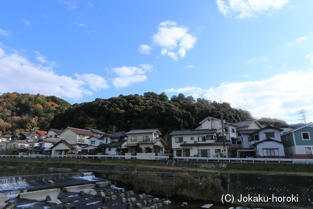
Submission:
M 0 196 L 17 196 L 27 190 L 59 187 L 65 185 L 86 184 L 101 181 L 93 172 L 51 173 L 28 176 L 0 177 Z

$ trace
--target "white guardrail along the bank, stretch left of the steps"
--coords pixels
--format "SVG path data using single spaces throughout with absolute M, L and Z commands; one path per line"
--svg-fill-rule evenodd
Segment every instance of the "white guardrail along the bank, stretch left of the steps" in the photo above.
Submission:
M 0 155 L 0 158 L 92 158 L 92 159 L 140 159 L 140 160 L 168 160 L 168 156 L 138 156 L 138 155 Z

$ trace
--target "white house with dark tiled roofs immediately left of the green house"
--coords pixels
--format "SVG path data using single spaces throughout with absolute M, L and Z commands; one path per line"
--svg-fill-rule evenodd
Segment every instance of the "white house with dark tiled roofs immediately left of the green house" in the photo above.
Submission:
M 242 149 L 237 150 L 237 157 L 285 156 L 280 138 L 282 129 L 269 125 L 263 127 L 256 119 L 235 124 L 238 125 L 238 137 L 242 140 Z

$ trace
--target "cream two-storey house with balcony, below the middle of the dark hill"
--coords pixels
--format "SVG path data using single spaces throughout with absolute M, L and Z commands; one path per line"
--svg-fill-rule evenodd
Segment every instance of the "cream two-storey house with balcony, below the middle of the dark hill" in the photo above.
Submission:
M 129 153 L 164 153 L 165 141 L 157 129 L 138 129 L 126 133 Z

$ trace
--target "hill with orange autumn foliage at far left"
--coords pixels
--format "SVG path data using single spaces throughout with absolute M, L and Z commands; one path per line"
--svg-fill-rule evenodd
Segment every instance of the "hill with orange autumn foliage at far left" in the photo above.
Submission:
M 0 134 L 30 131 L 30 119 L 38 117 L 38 128 L 47 130 L 55 114 L 71 106 L 56 96 L 29 93 L 3 93 L 0 95 Z

